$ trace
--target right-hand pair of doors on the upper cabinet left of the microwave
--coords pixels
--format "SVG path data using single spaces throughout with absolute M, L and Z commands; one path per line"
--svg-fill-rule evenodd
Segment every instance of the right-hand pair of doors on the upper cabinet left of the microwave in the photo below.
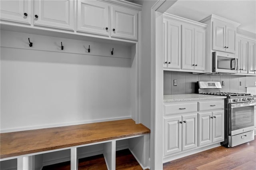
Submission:
M 182 25 L 182 69 L 205 69 L 205 30 Z

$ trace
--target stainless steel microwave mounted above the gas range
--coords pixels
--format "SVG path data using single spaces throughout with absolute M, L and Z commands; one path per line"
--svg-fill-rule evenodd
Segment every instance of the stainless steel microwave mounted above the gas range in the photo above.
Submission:
M 238 58 L 230 53 L 212 52 L 212 72 L 238 73 Z

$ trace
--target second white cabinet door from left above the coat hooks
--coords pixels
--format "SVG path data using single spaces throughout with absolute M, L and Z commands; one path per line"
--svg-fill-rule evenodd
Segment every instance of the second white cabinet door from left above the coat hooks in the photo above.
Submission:
M 33 18 L 35 26 L 74 30 L 74 0 L 35 0 Z

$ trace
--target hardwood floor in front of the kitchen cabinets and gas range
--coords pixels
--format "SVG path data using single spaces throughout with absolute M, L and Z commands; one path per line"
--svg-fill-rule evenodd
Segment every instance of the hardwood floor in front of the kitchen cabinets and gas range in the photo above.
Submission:
M 256 170 L 256 139 L 233 148 L 219 146 L 163 164 L 164 170 Z

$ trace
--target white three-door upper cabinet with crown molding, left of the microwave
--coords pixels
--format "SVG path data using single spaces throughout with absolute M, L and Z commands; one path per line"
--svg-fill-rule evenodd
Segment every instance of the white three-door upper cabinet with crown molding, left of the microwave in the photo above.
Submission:
M 164 70 L 205 70 L 206 24 L 164 14 Z

